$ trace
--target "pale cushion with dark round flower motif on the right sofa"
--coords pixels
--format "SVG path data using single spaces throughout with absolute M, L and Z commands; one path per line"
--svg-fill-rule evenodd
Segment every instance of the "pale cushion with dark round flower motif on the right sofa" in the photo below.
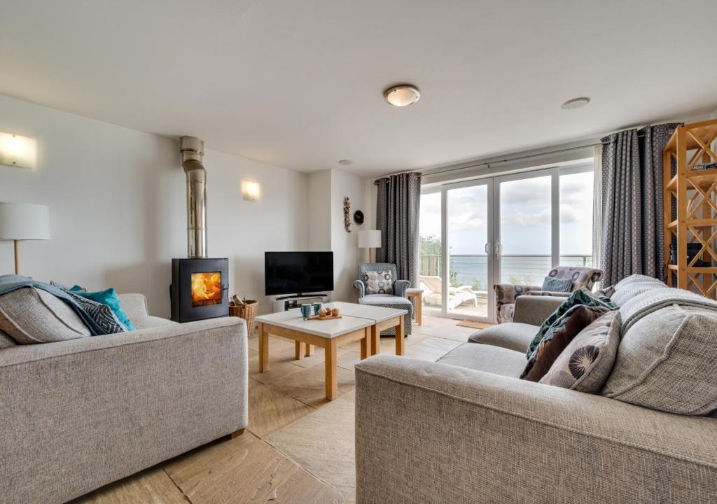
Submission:
M 609 311 L 573 338 L 540 383 L 597 394 L 612 371 L 619 343 L 620 315 Z

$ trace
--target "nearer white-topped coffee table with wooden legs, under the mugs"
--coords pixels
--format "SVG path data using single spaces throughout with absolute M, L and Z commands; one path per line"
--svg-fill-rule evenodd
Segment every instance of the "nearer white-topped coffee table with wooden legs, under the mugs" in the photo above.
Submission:
M 348 314 L 333 320 L 304 320 L 301 310 L 295 308 L 280 313 L 257 317 L 259 333 L 259 371 L 269 371 L 269 335 L 281 336 L 295 342 L 295 358 L 301 358 L 301 343 L 324 348 L 326 353 L 326 399 L 338 396 L 336 376 L 336 348 L 353 341 L 361 341 L 361 358 L 369 356 L 371 327 L 376 321 L 370 318 L 351 317 Z M 310 352 L 307 352 L 310 353 Z

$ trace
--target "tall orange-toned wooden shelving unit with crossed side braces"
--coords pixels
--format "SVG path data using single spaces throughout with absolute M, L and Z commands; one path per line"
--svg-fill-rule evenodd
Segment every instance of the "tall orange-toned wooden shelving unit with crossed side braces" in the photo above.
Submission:
M 678 126 L 663 153 L 665 278 L 668 285 L 713 299 L 717 298 L 717 168 L 700 168 L 717 163 L 711 147 L 716 138 L 717 120 Z M 670 257 L 673 242 L 675 262 Z M 700 248 L 688 261 L 689 243 Z

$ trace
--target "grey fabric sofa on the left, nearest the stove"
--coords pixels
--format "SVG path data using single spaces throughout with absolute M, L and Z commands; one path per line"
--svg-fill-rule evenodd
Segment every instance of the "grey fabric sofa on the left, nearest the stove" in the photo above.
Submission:
M 0 348 L 0 502 L 63 503 L 247 426 L 244 320 Z

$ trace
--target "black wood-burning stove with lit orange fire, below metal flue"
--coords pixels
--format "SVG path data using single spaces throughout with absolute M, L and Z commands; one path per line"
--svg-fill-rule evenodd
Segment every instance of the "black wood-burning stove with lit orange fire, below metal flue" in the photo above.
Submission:
M 173 259 L 172 320 L 190 322 L 229 315 L 228 259 Z

